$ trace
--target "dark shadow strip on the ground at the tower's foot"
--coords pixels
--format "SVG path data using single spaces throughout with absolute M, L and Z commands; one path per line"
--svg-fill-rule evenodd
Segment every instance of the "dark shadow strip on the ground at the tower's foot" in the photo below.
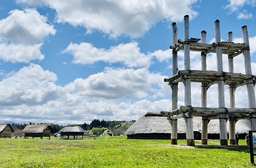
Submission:
M 220 145 L 196 145 L 195 149 L 226 149 L 229 151 L 238 151 L 250 153 L 250 147 L 247 145 L 228 145 L 228 146 L 220 146 Z

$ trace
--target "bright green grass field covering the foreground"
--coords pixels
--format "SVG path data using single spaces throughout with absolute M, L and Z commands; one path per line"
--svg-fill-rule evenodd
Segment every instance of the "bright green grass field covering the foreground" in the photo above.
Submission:
M 219 146 L 209 140 L 196 147 L 178 140 L 130 140 L 126 136 L 79 140 L 60 138 L 0 139 L 2 168 L 129 168 L 129 167 L 254 167 L 245 140 L 240 146 Z

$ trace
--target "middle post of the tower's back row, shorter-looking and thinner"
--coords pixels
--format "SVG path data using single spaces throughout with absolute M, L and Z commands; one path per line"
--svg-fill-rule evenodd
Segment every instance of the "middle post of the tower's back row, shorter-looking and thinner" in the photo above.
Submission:
M 201 31 L 202 34 L 202 43 L 206 43 L 206 31 Z M 207 70 L 206 65 L 206 54 L 201 52 L 202 57 L 202 71 Z M 201 105 L 203 108 L 207 107 L 207 83 L 202 83 L 201 86 Z M 208 117 L 202 117 L 202 138 L 201 144 L 207 144 L 208 139 Z

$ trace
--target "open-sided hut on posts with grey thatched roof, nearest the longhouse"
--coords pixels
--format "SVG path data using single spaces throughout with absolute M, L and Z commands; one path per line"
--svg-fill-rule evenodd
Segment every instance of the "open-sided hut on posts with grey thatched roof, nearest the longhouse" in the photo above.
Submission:
M 84 133 L 86 132 L 83 128 L 76 124 L 67 125 L 66 127 L 60 129 L 58 131 L 61 135 L 61 139 L 63 139 L 64 136 L 67 136 L 67 139 L 69 139 L 69 136 L 74 136 L 74 139 L 78 139 L 78 137 L 81 137 L 83 139 Z

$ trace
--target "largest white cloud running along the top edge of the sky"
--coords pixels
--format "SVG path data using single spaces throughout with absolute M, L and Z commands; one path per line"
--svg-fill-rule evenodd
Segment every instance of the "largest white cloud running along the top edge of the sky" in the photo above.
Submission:
M 48 6 L 57 12 L 58 22 L 84 26 L 87 33 L 99 30 L 111 37 L 142 36 L 163 19 L 181 21 L 184 15 L 195 18 L 197 0 L 17 0 L 29 6 Z

